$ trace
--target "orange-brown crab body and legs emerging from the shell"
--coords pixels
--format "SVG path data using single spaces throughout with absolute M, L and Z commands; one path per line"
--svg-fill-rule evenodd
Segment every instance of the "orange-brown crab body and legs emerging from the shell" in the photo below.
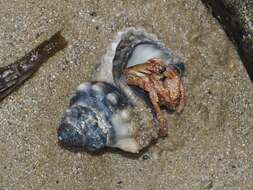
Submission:
M 150 59 L 146 63 L 129 67 L 124 72 L 127 83 L 149 93 L 160 122 L 160 134 L 167 135 L 167 126 L 160 106 L 180 112 L 186 102 L 180 74 L 162 59 Z

